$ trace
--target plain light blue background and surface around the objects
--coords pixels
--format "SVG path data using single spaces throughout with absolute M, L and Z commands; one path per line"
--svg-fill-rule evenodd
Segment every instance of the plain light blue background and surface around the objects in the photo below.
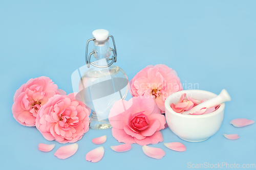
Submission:
M 0 169 L 186 169 L 191 164 L 256 164 L 256 124 L 235 128 L 233 118 L 256 120 L 256 1 L 0 1 L 1 141 Z M 13 95 L 30 78 L 50 77 L 72 92 L 71 74 L 84 65 L 86 41 L 95 29 L 115 37 L 118 60 L 131 80 L 149 64 L 175 69 L 182 83 L 219 93 L 226 103 L 221 129 L 204 142 L 179 139 L 168 128 L 164 142 L 185 144 L 183 153 L 166 152 L 161 160 L 147 157 L 142 147 L 116 153 L 111 129 L 89 130 L 66 160 L 53 154 L 63 144 L 47 141 L 36 128 L 19 125 L 12 116 Z M 127 96 L 127 100 L 131 95 Z M 228 140 L 222 133 L 239 134 Z M 85 155 L 98 147 L 91 140 L 107 135 L 98 163 Z M 55 143 L 49 153 L 38 143 Z M 224 166 L 223 168 L 225 168 Z

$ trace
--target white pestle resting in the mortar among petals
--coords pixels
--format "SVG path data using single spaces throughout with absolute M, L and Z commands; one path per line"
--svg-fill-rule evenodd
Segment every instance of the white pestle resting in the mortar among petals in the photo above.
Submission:
M 193 107 L 190 110 L 184 111 L 182 114 L 189 114 L 189 113 L 195 113 L 196 111 L 199 111 L 200 109 L 206 107 L 207 109 L 210 107 L 218 106 L 224 102 L 231 101 L 230 95 L 228 94 L 227 90 L 223 89 L 219 95 L 216 97 L 209 99 L 195 107 Z

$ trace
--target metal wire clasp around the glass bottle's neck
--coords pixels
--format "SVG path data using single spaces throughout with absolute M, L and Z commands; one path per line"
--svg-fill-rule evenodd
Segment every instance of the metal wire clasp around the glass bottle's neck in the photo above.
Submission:
M 93 54 L 95 54 L 94 51 L 91 52 L 91 53 L 89 54 L 89 58 L 87 58 L 87 57 L 88 57 L 88 45 L 89 45 L 89 42 L 90 42 L 90 41 L 93 41 L 93 40 L 96 40 L 95 38 L 91 38 L 91 39 L 89 39 L 89 40 L 87 41 L 87 44 L 86 44 L 86 64 L 87 64 L 87 67 L 88 67 L 88 68 L 90 67 L 90 64 L 91 64 L 92 66 L 95 66 L 95 67 L 98 67 L 98 68 L 105 68 L 105 67 L 111 66 L 114 62 L 117 61 L 117 52 L 116 52 L 115 40 L 114 40 L 114 37 L 113 37 L 112 35 L 109 35 L 109 37 L 112 38 L 113 45 L 114 45 L 114 49 L 113 49 L 113 48 L 110 48 L 110 51 L 112 51 L 113 54 L 114 54 L 114 56 L 112 56 L 112 58 L 109 58 L 109 60 L 111 61 L 111 63 L 109 63 L 108 65 L 99 66 L 99 65 L 94 64 L 94 61 L 91 62 L 91 56 L 92 56 Z

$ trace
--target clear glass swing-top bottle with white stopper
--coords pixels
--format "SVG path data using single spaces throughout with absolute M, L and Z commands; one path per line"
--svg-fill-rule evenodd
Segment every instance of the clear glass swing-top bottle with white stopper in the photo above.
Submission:
M 107 30 L 95 30 L 94 38 L 89 39 L 86 49 L 86 63 L 88 70 L 82 75 L 79 82 L 79 96 L 83 103 L 91 108 L 90 128 L 111 128 L 109 112 L 113 104 L 123 100 L 128 90 L 128 79 L 125 72 L 118 66 L 112 65 L 117 61 L 114 37 Z M 109 37 L 112 38 L 114 48 L 110 47 Z M 94 42 L 93 52 L 88 53 L 88 44 Z M 114 56 L 110 58 L 111 52 Z M 91 62 L 91 56 L 95 61 Z

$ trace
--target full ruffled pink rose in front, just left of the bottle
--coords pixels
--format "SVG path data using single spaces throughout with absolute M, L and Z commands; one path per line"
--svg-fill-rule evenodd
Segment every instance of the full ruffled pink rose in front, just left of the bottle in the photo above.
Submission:
M 35 125 L 47 140 L 73 143 L 89 130 L 91 109 L 75 100 L 75 93 L 54 95 L 38 111 Z

